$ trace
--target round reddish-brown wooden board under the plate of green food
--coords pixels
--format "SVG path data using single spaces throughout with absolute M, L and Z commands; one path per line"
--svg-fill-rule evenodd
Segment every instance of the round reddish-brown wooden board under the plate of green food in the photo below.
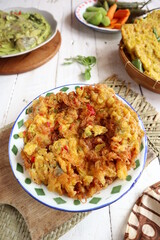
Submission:
M 42 47 L 16 57 L 0 58 L 0 74 L 18 74 L 28 72 L 48 62 L 58 52 L 61 45 L 61 34 L 57 31 L 55 37 Z

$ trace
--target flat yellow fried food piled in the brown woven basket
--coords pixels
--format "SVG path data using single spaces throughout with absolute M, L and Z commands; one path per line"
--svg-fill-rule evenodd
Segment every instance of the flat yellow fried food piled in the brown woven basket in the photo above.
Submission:
M 160 80 L 160 10 L 122 27 L 122 39 L 132 63 L 147 76 Z

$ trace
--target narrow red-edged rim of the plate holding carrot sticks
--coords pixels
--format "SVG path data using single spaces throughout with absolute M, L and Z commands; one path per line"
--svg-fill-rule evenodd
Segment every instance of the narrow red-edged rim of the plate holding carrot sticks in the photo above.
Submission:
M 76 19 L 77 19 L 80 23 L 82 23 L 84 26 L 86 26 L 86 27 L 88 27 L 88 28 L 91 28 L 91 29 L 93 29 L 93 30 L 95 30 L 95 31 L 98 31 L 98 32 L 102 32 L 102 33 L 120 33 L 121 30 L 119 30 L 119 29 L 107 29 L 107 28 L 97 27 L 97 26 L 94 26 L 94 25 L 92 25 L 92 24 L 87 23 L 87 21 L 85 21 L 85 19 L 84 19 L 84 21 L 82 21 L 82 20 L 78 17 L 78 15 L 77 15 L 77 10 L 81 7 L 81 5 L 86 4 L 86 3 L 87 3 L 87 4 L 88 4 L 88 3 L 92 3 L 92 2 L 96 3 L 97 1 L 94 1 L 94 0 L 86 0 L 86 1 L 81 2 L 80 4 L 77 5 L 77 7 L 75 8 L 75 11 L 74 11 L 74 14 L 75 14 Z M 91 5 L 91 6 L 93 6 L 93 5 Z M 82 16 L 82 17 L 83 17 L 83 16 Z

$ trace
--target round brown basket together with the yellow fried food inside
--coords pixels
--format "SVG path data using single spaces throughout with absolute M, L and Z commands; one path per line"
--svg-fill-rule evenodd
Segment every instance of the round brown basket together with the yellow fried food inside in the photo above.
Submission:
M 160 10 L 122 27 L 119 54 L 129 76 L 143 87 L 160 93 Z M 142 67 L 134 66 L 140 61 Z

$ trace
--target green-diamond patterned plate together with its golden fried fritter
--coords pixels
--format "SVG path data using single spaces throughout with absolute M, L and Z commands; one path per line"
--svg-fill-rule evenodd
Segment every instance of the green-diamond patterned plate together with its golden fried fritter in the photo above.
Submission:
M 147 155 L 134 109 L 104 84 L 71 84 L 43 93 L 13 126 L 9 159 L 20 185 L 55 209 L 95 210 L 125 195 Z

